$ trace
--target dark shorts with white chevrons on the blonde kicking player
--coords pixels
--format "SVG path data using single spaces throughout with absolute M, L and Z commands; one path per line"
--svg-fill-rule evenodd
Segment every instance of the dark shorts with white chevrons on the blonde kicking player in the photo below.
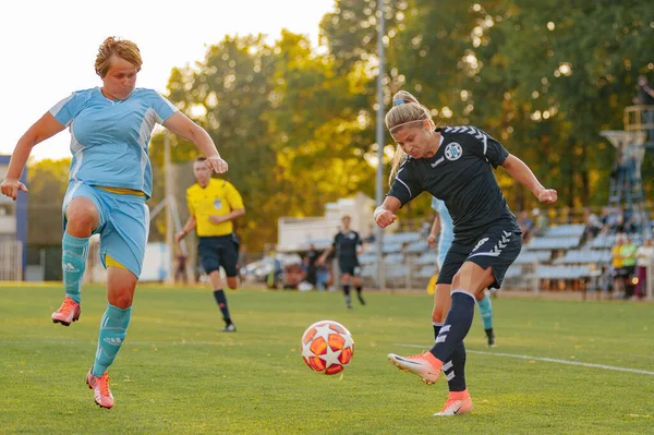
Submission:
M 452 242 L 436 283 L 452 283 L 463 263 L 472 262 L 483 269 L 491 267 L 495 277 L 488 288 L 499 289 L 507 269 L 520 254 L 522 237 L 510 222 L 488 228 L 475 243 Z

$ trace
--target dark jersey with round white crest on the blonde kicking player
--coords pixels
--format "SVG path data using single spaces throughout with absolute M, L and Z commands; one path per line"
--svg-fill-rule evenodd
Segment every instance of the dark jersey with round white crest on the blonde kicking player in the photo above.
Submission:
M 499 189 L 493 169 L 509 153 L 480 129 L 437 129 L 443 141 L 432 158 L 408 156 L 401 164 L 389 196 L 407 204 L 422 192 L 445 202 L 452 216 L 455 239 L 474 242 L 488 226 L 508 219 L 520 228 Z

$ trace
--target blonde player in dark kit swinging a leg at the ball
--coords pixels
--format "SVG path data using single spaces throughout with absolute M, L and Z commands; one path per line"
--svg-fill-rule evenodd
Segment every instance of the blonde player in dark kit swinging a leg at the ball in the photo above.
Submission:
M 388 227 L 402 205 L 427 191 L 445 202 L 455 226 L 455 240 L 434 293 L 436 342 L 423 354 L 390 353 L 388 359 L 419 375 L 425 384 L 434 384 L 444 371 L 450 392 L 435 415 L 462 414 L 472 410 L 464 377 L 463 339 L 472 325 L 475 299 L 486 288 L 500 287 L 522 247 L 520 227 L 493 169 L 504 167 L 543 203 L 556 202 L 557 192 L 545 189 L 522 160 L 480 129 L 435 129 L 431 111 L 407 92 L 393 96 L 386 126 L 408 156 L 393 162 L 390 192 L 375 210 L 377 225 Z

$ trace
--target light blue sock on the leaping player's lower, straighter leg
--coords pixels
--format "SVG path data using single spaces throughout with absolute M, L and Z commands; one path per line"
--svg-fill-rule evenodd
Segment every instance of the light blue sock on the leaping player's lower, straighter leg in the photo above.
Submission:
M 102 376 L 107 368 L 113 363 L 126 335 L 132 307 L 121 310 L 108 304 L 107 311 L 100 322 L 100 336 L 98 338 L 98 351 L 92 373 L 94 376 Z

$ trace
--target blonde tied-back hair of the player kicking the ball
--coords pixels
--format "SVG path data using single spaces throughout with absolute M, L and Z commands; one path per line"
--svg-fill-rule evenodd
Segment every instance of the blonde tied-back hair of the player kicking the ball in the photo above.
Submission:
M 425 106 L 421 105 L 417 98 L 407 90 L 399 90 L 392 96 L 392 107 L 386 113 L 386 128 L 392 134 L 399 132 L 404 125 L 420 126 L 421 124 L 416 121 L 428 120 L 432 125 L 435 126 L 432 121 L 432 112 Z M 398 145 L 396 146 L 395 157 L 390 166 L 390 176 L 388 183 L 392 184 L 398 169 L 402 161 L 407 158 L 407 153 Z

